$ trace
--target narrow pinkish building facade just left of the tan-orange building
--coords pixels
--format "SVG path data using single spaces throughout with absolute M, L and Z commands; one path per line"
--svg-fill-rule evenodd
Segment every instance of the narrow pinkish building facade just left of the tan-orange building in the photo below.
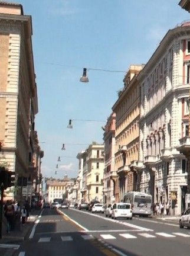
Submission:
M 103 176 L 103 202 L 114 203 L 117 172 L 114 168 L 116 114 L 112 113 L 104 127 L 104 176 Z

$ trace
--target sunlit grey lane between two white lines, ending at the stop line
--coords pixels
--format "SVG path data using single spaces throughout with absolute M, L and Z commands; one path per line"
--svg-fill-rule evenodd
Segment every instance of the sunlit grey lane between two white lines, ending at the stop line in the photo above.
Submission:
M 133 231 L 146 228 L 136 226 L 133 220 L 120 222 L 104 217 L 104 215 L 96 215 L 94 213 L 79 211 L 76 209 L 61 210 L 65 215 L 86 228 L 87 231 Z M 123 224 L 124 223 L 124 224 Z

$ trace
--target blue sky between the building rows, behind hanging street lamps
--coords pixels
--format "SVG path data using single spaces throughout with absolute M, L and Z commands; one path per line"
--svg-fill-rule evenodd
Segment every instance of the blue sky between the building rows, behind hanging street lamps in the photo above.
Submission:
M 83 68 L 127 71 L 131 64 L 148 62 L 166 32 L 190 19 L 178 3 L 19 1 L 24 14 L 32 16 L 39 108 L 35 129 L 44 150 L 44 177 L 77 177 L 77 153 L 92 141 L 103 143 L 101 126 L 112 113 L 117 91 L 123 88 L 124 72 L 90 70 L 89 83 L 84 84 L 79 82 Z M 73 121 L 73 129 L 67 129 L 69 119 L 105 122 Z M 65 151 L 61 151 L 63 143 Z

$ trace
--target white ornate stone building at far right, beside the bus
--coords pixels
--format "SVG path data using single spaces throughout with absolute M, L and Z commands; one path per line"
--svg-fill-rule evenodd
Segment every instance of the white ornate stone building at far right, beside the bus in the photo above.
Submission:
M 137 77 L 140 84 L 140 191 L 185 209 L 187 166 L 176 148 L 188 133 L 190 24 L 169 30 Z

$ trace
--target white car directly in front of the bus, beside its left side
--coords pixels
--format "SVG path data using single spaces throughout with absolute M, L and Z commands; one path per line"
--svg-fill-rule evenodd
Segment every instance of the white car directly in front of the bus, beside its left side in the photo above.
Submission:
M 132 220 L 133 212 L 130 203 L 114 203 L 112 210 L 112 219 L 117 217 L 125 217 L 126 219 Z

